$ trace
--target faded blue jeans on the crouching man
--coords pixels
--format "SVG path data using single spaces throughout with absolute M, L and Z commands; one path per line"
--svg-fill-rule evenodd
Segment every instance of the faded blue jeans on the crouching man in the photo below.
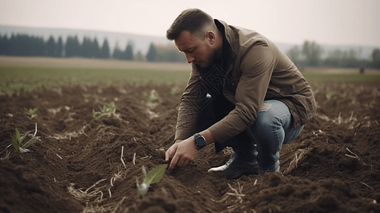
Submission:
M 264 101 L 263 106 L 265 107 L 261 107 L 261 111 L 259 111 L 252 126 L 227 141 L 215 143 L 215 151 L 222 151 L 226 146 L 234 149 L 247 148 L 256 143 L 259 163 L 264 165 L 275 163 L 277 170 L 279 168 L 278 159 L 280 158 L 281 146 L 283 143 L 288 143 L 297 138 L 303 130 L 303 126 L 299 129 L 294 129 L 291 111 L 283 102 L 267 100 Z M 196 131 L 202 131 L 215 124 L 234 107 L 234 104 L 224 97 L 212 100 L 200 112 Z

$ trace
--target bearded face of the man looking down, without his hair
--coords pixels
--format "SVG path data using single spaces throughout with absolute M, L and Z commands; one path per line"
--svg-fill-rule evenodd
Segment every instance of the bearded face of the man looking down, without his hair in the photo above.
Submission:
M 183 31 L 174 41 L 178 50 L 185 53 L 189 63 L 194 62 L 202 68 L 210 66 L 215 50 L 207 38 L 201 40 L 200 38 L 195 38 L 189 31 Z

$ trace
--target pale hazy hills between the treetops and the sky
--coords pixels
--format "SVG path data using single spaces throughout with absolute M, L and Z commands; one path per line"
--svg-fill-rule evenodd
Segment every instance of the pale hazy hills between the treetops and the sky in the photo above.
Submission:
M 133 45 L 133 53 L 137 54 L 140 52 L 145 55 L 148 52 L 149 46 L 151 43 L 154 43 L 156 46 L 159 45 L 173 45 L 173 41 L 168 40 L 165 36 L 154 36 L 154 35 L 138 35 L 134 33 L 122 33 L 122 32 L 111 32 L 111 31 L 97 31 L 97 30 L 87 30 L 87 29 L 74 29 L 74 28 L 44 28 L 44 27 L 31 27 L 31 26 L 9 26 L 9 25 L 0 25 L 0 35 L 8 35 L 8 38 L 12 34 L 25 34 L 29 36 L 36 36 L 43 38 L 45 42 L 48 41 L 50 36 L 53 36 L 55 41 L 58 41 L 59 37 L 63 38 L 63 43 L 66 43 L 69 36 L 77 36 L 77 39 L 80 43 L 83 42 L 84 38 L 89 38 L 94 40 L 97 38 L 99 47 L 102 46 L 104 40 L 107 39 L 109 43 L 110 51 L 113 51 L 114 48 L 119 47 L 121 50 L 126 48 L 130 42 Z M 310 43 L 313 43 L 313 40 L 308 40 Z M 280 48 L 284 53 L 288 53 L 291 48 L 298 46 L 300 50 L 303 48 L 303 43 L 276 43 L 278 48 Z M 321 44 L 315 42 L 317 45 L 322 48 L 322 58 L 327 58 L 328 55 L 335 50 L 341 50 L 343 52 L 354 50 L 358 58 L 370 59 L 372 51 L 375 48 L 380 48 L 379 46 L 374 45 L 344 45 L 344 44 Z

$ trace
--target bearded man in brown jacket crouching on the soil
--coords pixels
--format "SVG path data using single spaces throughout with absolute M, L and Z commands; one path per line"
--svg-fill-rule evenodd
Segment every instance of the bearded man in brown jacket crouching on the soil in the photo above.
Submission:
M 283 143 L 296 138 L 316 111 L 310 85 L 289 58 L 256 31 L 229 26 L 200 9 L 180 13 L 167 31 L 192 72 L 181 97 L 170 168 L 187 165 L 215 143 L 234 155 L 209 172 L 279 172 Z

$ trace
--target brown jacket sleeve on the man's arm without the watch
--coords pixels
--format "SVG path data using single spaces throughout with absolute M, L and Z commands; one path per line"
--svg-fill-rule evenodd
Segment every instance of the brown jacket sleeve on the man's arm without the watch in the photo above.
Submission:
M 186 139 L 195 133 L 200 106 L 206 99 L 207 92 L 200 84 L 200 75 L 197 67 L 192 65 L 188 85 L 180 99 L 178 119 L 175 131 L 175 140 Z

